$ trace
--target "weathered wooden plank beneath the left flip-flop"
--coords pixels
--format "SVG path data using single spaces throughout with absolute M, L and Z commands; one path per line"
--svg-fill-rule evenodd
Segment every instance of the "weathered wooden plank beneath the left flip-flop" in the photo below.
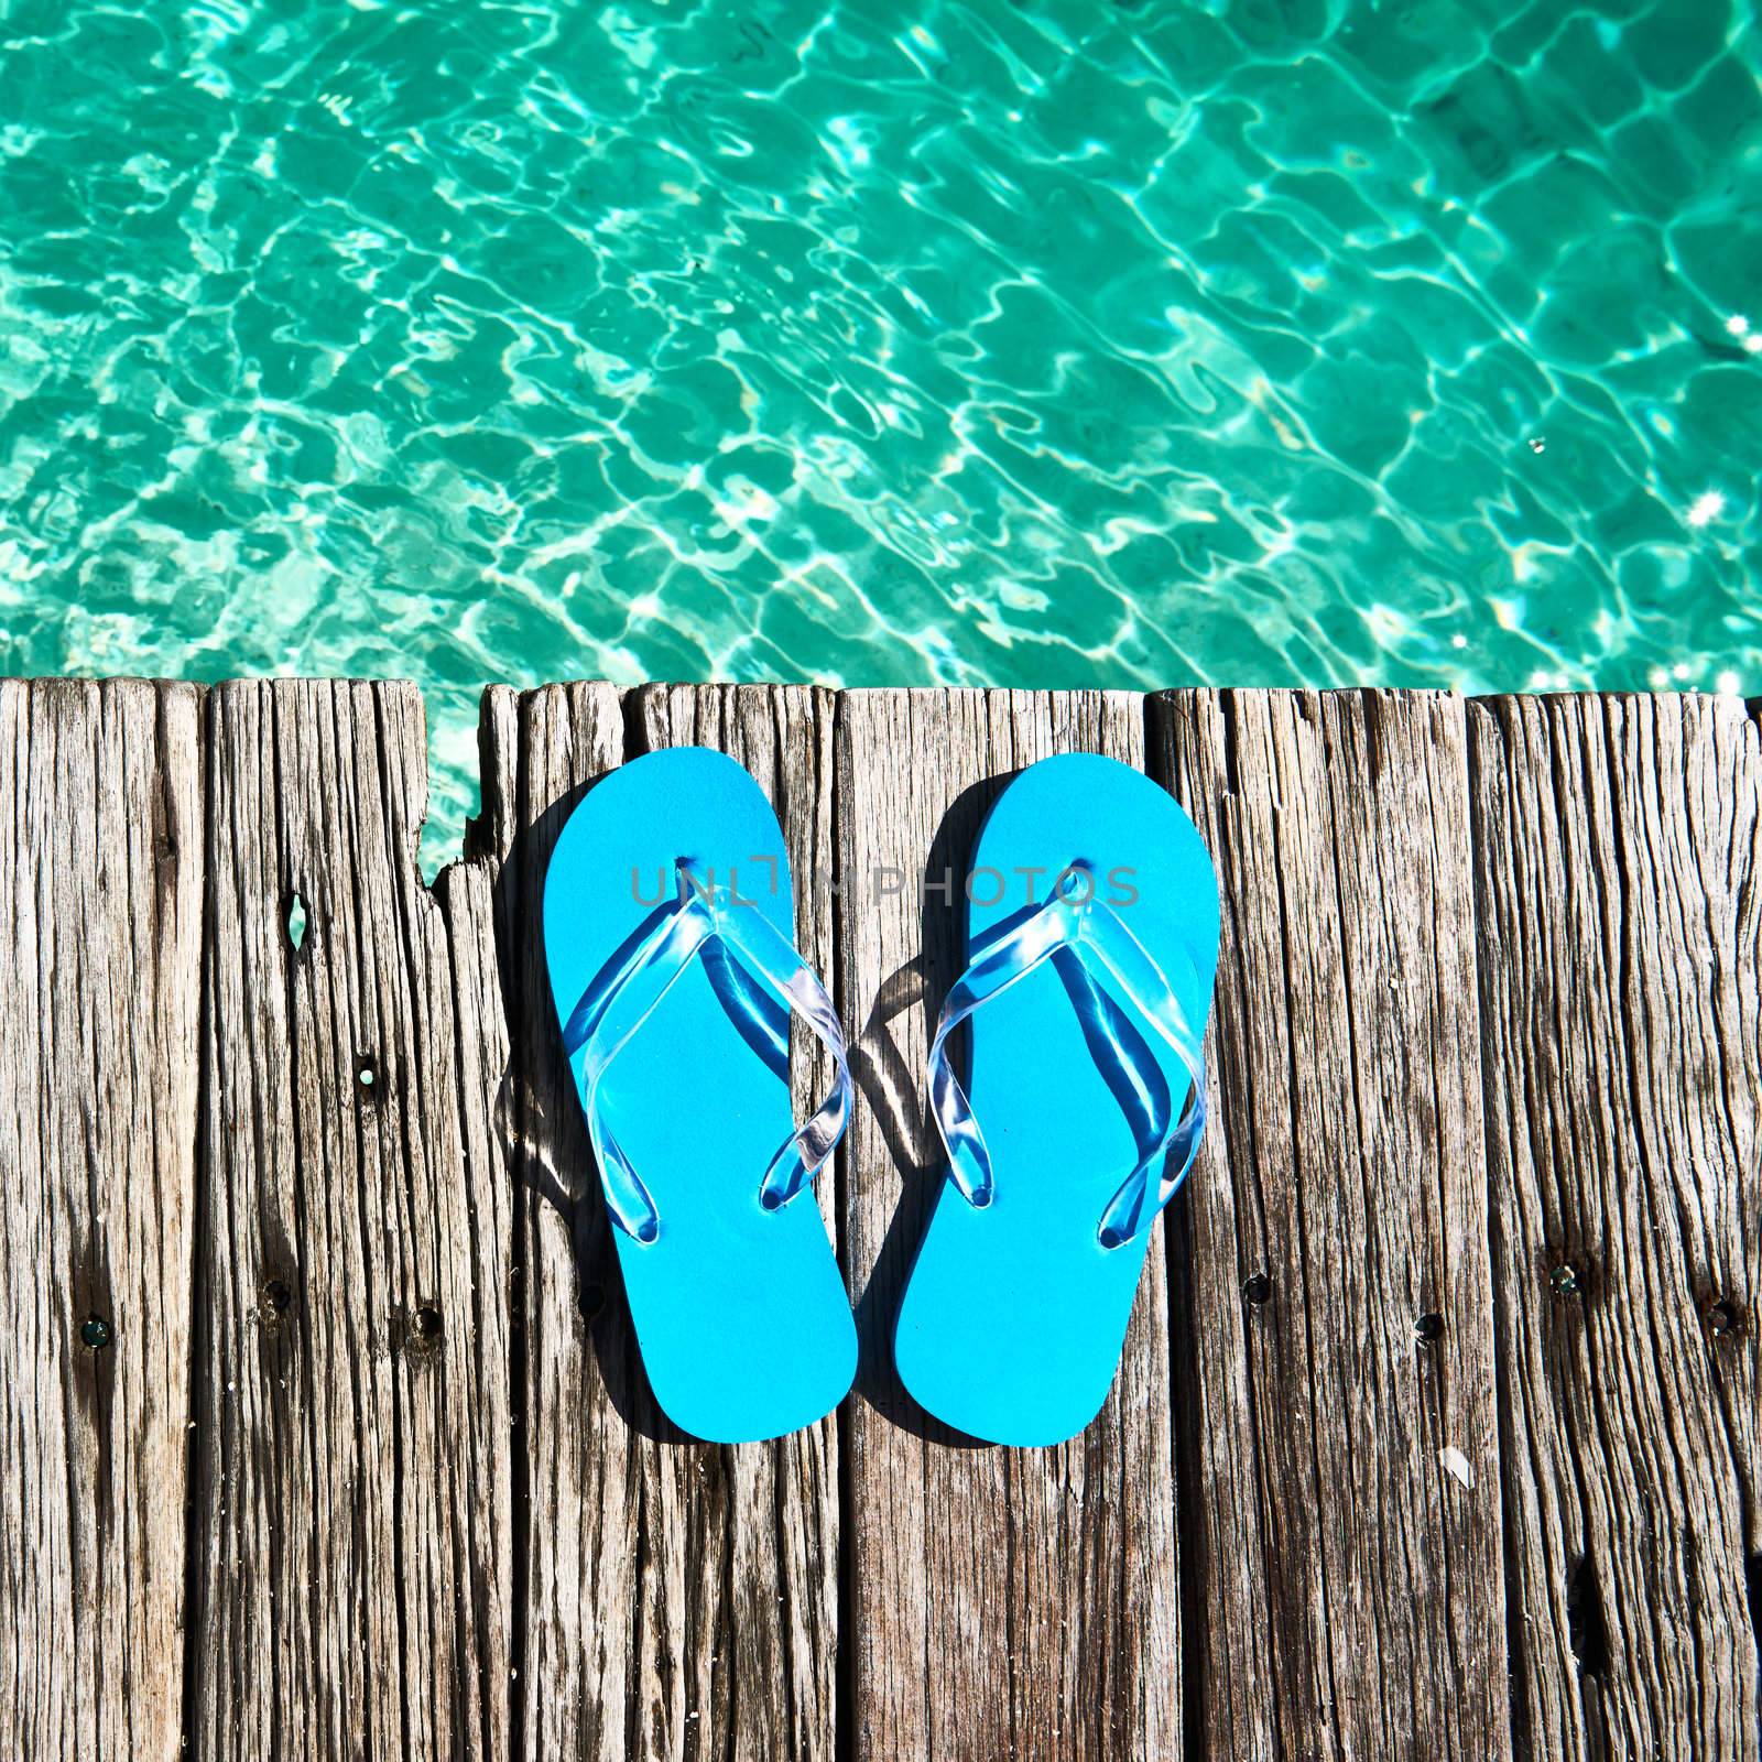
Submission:
M 515 985 L 527 1297 L 527 1753 L 825 1757 L 835 1741 L 832 1420 L 772 1445 L 684 1438 L 655 1408 L 624 1306 L 539 939 L 544 869 L 583 788 L 626 756 L 731 752 L 779 809 L 802 948 L 830 973 L 830 717 L 807 689 L 604 685 L 520 701 L 504 916 Z M 798 1057 L 803 1096 L 821 1080 Z

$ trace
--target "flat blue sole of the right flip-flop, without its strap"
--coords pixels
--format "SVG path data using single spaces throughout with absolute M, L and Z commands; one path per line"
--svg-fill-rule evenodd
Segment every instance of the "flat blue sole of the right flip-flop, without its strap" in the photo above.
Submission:
M 1073 862 L 1094 870 L 1099 897 L 1203 1024 L 1218 966 L 1210 856 L 1179 803 L 1114 759 L 1066 754 L 1008 784 L 973 855 L 969 946 L 1038 906 Z M 996 1196 L 974 1209 L 944 1179 L 895 1330 L 911 1396 L 992 1443 L 1061 1443 L 1096 1417 L 1151 1239 L 1149 1225 L 1114 1249 L 1098 1237 L 1138 1149 L 1091 1050 L 1099 1024 L 1078 1008 L 1068 959 L 1034 969 L 969 1024 L 966 1087 Z M 1184 1092 L 1184 1075 L 1175 1082 Z

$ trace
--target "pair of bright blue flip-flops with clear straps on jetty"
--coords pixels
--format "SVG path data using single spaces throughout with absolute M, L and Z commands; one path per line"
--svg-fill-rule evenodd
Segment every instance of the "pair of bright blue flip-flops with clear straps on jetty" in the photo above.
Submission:
M 1059 1443 L 1107 1399 L 1151 1223 L 1203 1131 L 1218 883 L 1163 789 L 1068 754 L 997 798 L 966 893 L 969 962 L 929 1061 L 946 1177 L 895 1362 L 973 1438 Z M 648 1381 L 677 1425 L 721 1443 L 812 1424 L 856 1373 L 812 1191 L 851 1073 L 793 899 L 763 791 L 703 747 L 606 777 L 544 883 L 552 990 Z M 791 1010 L 837 1071 L 800 1128 Z M 962 1084 L 950 1036 L 969 1022 Z

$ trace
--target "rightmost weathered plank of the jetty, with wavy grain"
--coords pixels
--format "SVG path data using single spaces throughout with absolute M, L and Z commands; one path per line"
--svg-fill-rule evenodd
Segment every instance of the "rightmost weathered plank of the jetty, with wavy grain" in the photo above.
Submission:
M 1499 698 L 1470 731 L 1519 1737 L 1755 1758 L 1757 726 Z

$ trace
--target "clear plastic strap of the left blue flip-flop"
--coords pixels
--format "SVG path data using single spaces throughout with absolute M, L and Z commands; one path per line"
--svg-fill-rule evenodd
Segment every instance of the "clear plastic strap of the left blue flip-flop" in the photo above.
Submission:
M 759 1203 L 779 1210 L 812 1181 L 832 1154 L 851 1117 L 851 1070 L 844 1033 L 825 985 L 786 936 L 742 900 L 733 885 L 717 885 L 692 863 L 678 863 L 678 899 L 661 922 L 622 959 L 608 962 L 581 994 L 564 1025 L 564 1050 L 573 1059 L 583 1052 L 581 1077 L 589 1135 L 606 1186 L 613 1221 L 634 1240 L 650 1244 L 661 1235 L 661 1216 L 648 1188 L 624 1154 L 599 1107 L 599 1084 L 613 1059 L 636 1038 L 661 999 L 685 973 L 692 957 L 712 943 L 735 957 L 729 978 L 719 988 L 722 1003 L 788 1059 L 788 1033 L 777 1036 L 759 997 L 738 983 L 742 969 L 765 981 L 786 1004 L 798 1010 L 832 1052 L 837 1075 L 832 1091 L 809 1121 L 793 1131 L 772 1158 L 759 1182 Z

